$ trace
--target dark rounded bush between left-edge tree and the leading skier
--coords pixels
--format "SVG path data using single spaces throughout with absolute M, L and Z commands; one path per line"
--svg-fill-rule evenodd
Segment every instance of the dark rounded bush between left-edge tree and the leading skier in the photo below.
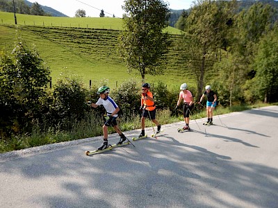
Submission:
M 55 130 L 71 130 L 72 125 L 81 121 L 85 112 L 88 112 L 86 96 L 88 90 L 78 80 L 69 77 L 60 79 L 53 92 L 44 99 L 42 107 L 44 116 L 40 123 L 46 125 L 42 130 L 47 130 L 49 127 Z

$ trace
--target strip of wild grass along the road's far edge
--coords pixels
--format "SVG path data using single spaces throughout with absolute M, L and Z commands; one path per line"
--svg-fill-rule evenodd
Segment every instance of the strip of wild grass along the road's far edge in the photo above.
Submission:
M 256 103 L 254 105 L 240 105 L 234 107 L 221 107 L 219 106 L 217 110 L 214 111 L 214 115 L 228 114 L 230 112 L 240 112 L 243 110 L 250 110 L 252 108 L 269 106 L 270 104 L 265 103 Z M 278 105 L 278 103 L 272 103 L 272 105 Z M 179 114 L 178 116 L 172 116 L 170 110 L 158 110 L 156 118 L 162 125 L 168 123 L 175 123 L 183 121 L 183 115 Z M 190 122 L 192 123 L 195 119 L 206 118 L 206 110 L 201 110 L 200 112 L 194 112 L 190 116 Z M 86 116 L 83 121 L 74 122 L 74 128 L 72 130 L 65 131 L 54 131 L 53 129 L 48 129 L 45 132 L 41 132 L 38 126 L 33 129 L 33 132 L 30 135 L 21 135 L 13 136 L 9 140 L 3 141 L 0 140 L 0 153 L 6 153 L 13 150 L 20 150 L 24 148 L 31 148 L 35 146 L 42 146 L 45 144 L 54 144 L 63 141 L 72 141 L 76 139 L 83 139 L 89 137 L 97 137 L 102 135 L 102 123 L 97 120 L 95 114 L 90 113 Z M 119 127 L 125 132 L 128 130 L 140 129 L 140 116 L 134 115 L 127 117 L 122 117 L 119 119 Z M 152 127 L 154 125 L 147 119 L 145 123 L 146 127 Z M 156 126 L 154 126 L 156 130 Z M 108 128 L 108 133 L 115 133 L 113 128 Z M 99 141 L 101 142 L 101 141 Z

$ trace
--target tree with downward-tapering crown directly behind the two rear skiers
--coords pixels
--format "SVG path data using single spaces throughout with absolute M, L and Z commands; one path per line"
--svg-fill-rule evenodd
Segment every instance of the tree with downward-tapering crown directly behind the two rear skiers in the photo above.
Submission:
M 217 61 L 215 54 L 227 37 L 235 1 L 199 0 L 186 18 L 183 58 L 195 75 L 197 97 L 202 96 L 206 72 Z

